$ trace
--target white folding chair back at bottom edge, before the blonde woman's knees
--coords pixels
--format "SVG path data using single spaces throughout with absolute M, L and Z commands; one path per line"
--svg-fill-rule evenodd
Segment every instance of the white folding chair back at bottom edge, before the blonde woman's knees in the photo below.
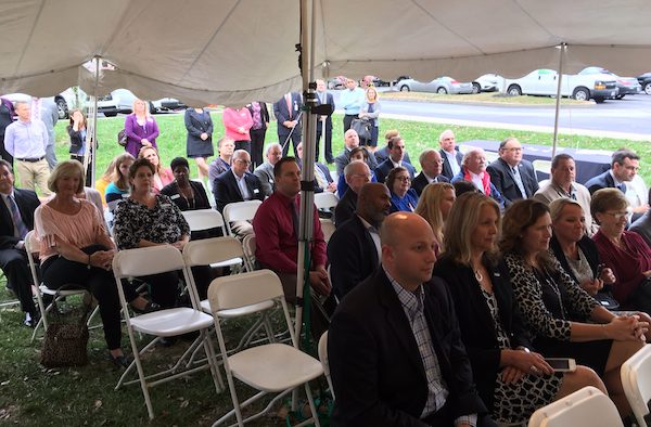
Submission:
M 596 387 L 584 387 L 533 413 L 528 427 L 623 427 L 612 400 Z

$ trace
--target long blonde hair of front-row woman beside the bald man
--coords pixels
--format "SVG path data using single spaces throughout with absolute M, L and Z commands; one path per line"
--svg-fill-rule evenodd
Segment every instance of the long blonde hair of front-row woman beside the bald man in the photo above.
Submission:
M 492 207 L 499 221 L 500 211 L 497 202 L 482 193 L 463 193 L 455 200 L 450 215 L 445 222 L 445 253 L 459 263 L 469 266 L 471 262 L 472 234 L 481 221 L 484 206 Z M 497 245 L 486 255 L 495 261 L 498 255 Z

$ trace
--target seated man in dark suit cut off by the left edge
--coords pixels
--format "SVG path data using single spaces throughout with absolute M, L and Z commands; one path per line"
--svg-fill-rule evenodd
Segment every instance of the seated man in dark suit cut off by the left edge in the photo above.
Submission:
M 34 230 L 34 211 L 40 205 L 36 193 L 14 189 L 11 164 L 0 159 L 0 268 L 25 312 L 25 325 L 35 326 L 39 312 L 34 305 L 31 273 L 25 253 L 25 235 Z

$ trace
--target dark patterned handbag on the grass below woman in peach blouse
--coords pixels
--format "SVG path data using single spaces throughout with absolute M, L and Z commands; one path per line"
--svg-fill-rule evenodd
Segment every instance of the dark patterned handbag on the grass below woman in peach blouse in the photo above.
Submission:
M 46 367 L 82 366 L 88 363 L 88 314 L 90 306 L 62 313 L 56 305 L 62 286 L 52 301 L 48 329 L 41 348 L 41 364 Z M 68 288 L 75 288 L 68 286 Z

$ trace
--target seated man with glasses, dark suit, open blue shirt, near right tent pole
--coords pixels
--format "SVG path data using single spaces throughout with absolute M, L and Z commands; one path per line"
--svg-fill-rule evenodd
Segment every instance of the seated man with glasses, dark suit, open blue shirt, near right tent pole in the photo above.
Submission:
M 516 138 L 507 138 L 499 144 L 499 158 L 488 165 L 486 171 L 502 195 L 505 206 L 533 197 L 538 191 L 534 166 L 522 158 L 522 145 Z

